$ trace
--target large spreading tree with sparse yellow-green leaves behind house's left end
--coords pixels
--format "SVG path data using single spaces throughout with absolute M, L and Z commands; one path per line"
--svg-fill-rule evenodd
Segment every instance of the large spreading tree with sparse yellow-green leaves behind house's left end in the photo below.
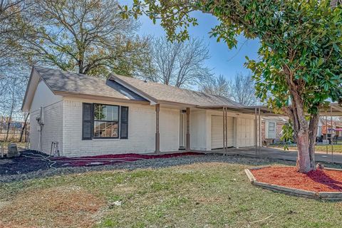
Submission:
M 64 71 L 108 76 L 132 76 L 143 67 L 148 38 L 136 31 L 140 24 L 123 19 L 117 1 L 31 0 L 11 24 L 16 50 L 31 64 Z

